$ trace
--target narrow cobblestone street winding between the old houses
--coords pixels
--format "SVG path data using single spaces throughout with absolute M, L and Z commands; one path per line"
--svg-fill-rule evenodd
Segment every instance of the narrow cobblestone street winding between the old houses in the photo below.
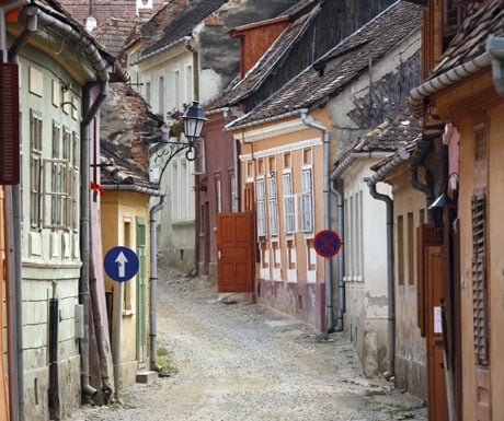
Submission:
M 319 335 L 172 270 L 160 270 L 158 292 L 158 348 L 173 373 L 73 420 L 426 420 L 421 399 L 360 374 L 342 334 Z

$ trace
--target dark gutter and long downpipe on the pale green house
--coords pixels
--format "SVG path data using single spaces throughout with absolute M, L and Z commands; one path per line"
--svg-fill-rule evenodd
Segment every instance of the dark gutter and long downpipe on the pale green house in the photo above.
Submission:
M 80 248 L 81 248 L 81 274 L 79 280 L 79 299 L 83 306 L 84 316 L 84 338 L 80 340 L 81 351 L 81 389 L 82 397 L 93 397 L 98 390 L 90 385 L 90 363 L 89 363 L 89 314 L 90 314 L 90 125 L 96 116 L 100 106 L 105 101 L 108 93 L 108 72 L 107 63 L 100 55 L 100 51 L 90 38 L 80 34 L 72 26 L 56 20 L 54 16 L 38 11 L 38 22 L 59 32 L 68 37 L 70 42 L 79 45 L 96 71 L 96 79 L 100 81 L 100 93 L 91 104 L 91 89 L 94 83 L 87 83 L 82 89 L 82 114 L 81 121 L 81 186 L 80 186 Z M 117 385 L 116 385 L 117 387 Z

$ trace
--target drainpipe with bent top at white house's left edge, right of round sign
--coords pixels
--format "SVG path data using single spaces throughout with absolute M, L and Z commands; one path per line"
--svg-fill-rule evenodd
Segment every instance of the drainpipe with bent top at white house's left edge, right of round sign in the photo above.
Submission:
M 343 192 L 336 187 L 336 179 L 348 169 L 356 161 L 362 159 L 385 159 L 390 156 L 390 152 L 382 151 L 369 151 L 369 152 L 351 152 L 348 153 L 343 161 L 336 166 L 336 168 L 331 174 L 331 192 L 336 196 L 337 202 L 337 233 L 342 238 L 345 237 L 344 233 L 344 207 L 343 207 Z M 344 239 L 342 241 L 344 243 Z M 346 296 L 345 296 L 345 248 L 342 247 L 341 252 L 337 254 L 337 311 L 336 311 L 336 327 L 335 331 L 342 331 L 343 326 L 343 314 L 346 311 Z

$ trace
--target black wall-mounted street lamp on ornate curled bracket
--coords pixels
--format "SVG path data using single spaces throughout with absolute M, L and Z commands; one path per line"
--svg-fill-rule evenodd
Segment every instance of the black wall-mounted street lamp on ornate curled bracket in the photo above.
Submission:
M 187 161 L 194 161 L 197 157 L 197 149 L 199 147 L 199 137 L 202 136 L 203 125 L 207 120 L 205 112 L 197 101 L 193 101 L 182 116 L 184 120 L 184 136 L 186 142 L 171 142 L 169 137 L 162 137 L 158 144 L 153 148 L 152 155 L 154 163 L 162 165 L 159 183 L 161 183 L 164 169 L 170 161 L 180 152 L 185 150 Z M 167 148 L 168 147 L 168 148 Z

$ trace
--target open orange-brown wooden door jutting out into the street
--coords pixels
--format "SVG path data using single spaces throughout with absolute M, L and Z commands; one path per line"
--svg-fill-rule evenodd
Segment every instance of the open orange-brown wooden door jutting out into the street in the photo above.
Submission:
M 217 214 L 219 292 L 252 292 L 254 279 L 253 213 Z

